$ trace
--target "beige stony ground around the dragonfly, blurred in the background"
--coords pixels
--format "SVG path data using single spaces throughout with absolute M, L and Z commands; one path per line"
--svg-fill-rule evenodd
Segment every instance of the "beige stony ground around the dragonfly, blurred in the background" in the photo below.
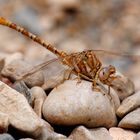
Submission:
M 24 26 L 67 53 L 96 52 L 117 79 L 100 91 L 75 76 L 63 81 L 59 61 L 18 79 L 55 58 L 33 41 L 0 26 L 0 140 L 140 139 L 139 0 L 0 0 L 0 16 Z

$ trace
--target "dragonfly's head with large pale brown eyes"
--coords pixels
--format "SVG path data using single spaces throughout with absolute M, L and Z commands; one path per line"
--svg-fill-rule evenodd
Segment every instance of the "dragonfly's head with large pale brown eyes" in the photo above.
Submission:
M 108 67 L 103 67 L 99 72 L 99 80 L 106 85 L 110 85 L 111 82 L 116 78 L 116 69 L 114 66 L 109 65 Z

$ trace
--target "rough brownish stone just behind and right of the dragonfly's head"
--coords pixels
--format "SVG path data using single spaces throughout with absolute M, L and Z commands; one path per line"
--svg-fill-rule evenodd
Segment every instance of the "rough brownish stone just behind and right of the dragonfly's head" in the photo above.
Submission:
M 114 79 L 111 83 L 111 87 L 117 92 L 121 101 L 135 92 L 134 83 L 122 75 Z

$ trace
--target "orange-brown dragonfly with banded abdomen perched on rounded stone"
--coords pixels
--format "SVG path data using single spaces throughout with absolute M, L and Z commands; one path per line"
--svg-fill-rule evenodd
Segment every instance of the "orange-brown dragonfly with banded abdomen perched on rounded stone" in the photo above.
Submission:
M 92 82 L 92 88 L 93 90 L 99 91 L 100 89 L 97 87 L 99 85 L 99 82 L 102 84 L 105 84 L 108 86 L 108 92 L 110 92 L 111 83 L 114 79 L 117 78 L 116 75 L 116 68 L 113 65 L 103 66 L 100 59 L 97 57 L 97 54 L 107 54 L 107 55 L 114 55 L 114 56 L 126 56 L 130 57 L 129 54 L 121 54 L 117 52 L 110 52 L 105 50 L 85 50 L 82 52 L 76 52 L 68 54 L 64 51 L 58 50 L 56 47 L 52 46 L 50 43 L 46 43 L 43 39 L 38 37 L 37 35 L 27 31 L 25 28 L 16 25 L 15 23 L 0 17 L 0 25 L 7 26 L 9 28 L 12 28 L 24 36 L 30 38 L 34 42 L 40 44 L 53 54 L 57 56 L 56 59 L 52 59 L 50 61 L 46 61 L 40 65 L 38 65 L 36 68 L 33 68 L 30 70 L 29 73 L 26 73 L 22 75 L 18 80 L 22 80 L 25 77 L 35 73 L 36 71 L 46 67 L 50 63 L 53 63 L 57 60 L 60 60 L 63 65 L 68 66 L 69 68 L 69 74 L 67 76 L 67 79 L 71 76 L 71 74 L 75 74 L 77 76 L 78 82 L 81 81 L 81 79 L 88 80 Z M 99 81 L 99 82 L 98 82 Z

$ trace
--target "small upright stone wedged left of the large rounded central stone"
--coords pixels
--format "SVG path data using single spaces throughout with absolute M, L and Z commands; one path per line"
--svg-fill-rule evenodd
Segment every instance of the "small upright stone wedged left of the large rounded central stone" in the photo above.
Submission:
M 42 116 L 42 105 L 46 99 L 46 93 L 41 87 L 32 87 L 31 96 L 33 100 L 33 109 L 35 113 L 41 118 Z

